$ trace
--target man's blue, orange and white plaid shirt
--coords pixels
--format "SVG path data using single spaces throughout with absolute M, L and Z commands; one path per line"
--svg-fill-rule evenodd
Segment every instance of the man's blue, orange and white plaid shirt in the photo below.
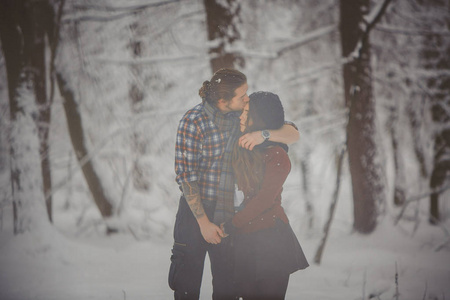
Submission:
M 227 117 L 236 122 L 239 113 L 229 113 Z M 222 157 L 230 131 L 220 131 L 198 104 L 180 121 L 175 146 L 176 181 L 197 181 L 202 201 L 216 201 L 222 170 Z

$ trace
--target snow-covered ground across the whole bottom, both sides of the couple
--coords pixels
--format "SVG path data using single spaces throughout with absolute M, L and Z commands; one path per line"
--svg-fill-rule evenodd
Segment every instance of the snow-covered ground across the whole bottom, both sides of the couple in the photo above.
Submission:
M 170 237 L 74 238 L 53 227 L 14 237 L 7 225 L 0 233 L 2 300 L 172 298 L 167 285 Z M 385 219 L 368 236 L 332 229 L 320 265 L 313 262 L 320 234 L 299 235 L 311 266 L 292 275 L 286 299 L 449 299 L 448 244 L 436 251 L 448 236 L 425 223 L 412 235 L 409 226 Z M 201 299 L 211 299 L 210 282 L 206 263 Z

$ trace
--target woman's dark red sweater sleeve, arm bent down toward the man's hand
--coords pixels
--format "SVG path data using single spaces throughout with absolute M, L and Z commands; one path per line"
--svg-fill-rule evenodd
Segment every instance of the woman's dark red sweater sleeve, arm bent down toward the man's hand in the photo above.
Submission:
M 259 192 L 251 198 L 245 208 L 235 214 L 232 224 L 243 227 L 270 209 L 281 194 L 283 184 L 291 170 L 287 153 L 280 147 L 273 148 L 271 157 L 266 161 L 266 170 Z

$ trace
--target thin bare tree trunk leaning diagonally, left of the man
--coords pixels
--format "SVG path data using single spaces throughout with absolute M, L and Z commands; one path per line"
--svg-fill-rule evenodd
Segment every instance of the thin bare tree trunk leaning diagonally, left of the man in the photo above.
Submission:
M 84 142 L 85 139 L 81 115 L 74 92 L 68 86 L 67 80 L 61 73 L 56 74 L 56 79 L 61 95 L 64 98 L 64 111 L 66 113 L 70 140 L 88 184 L 89 190 L 94 198 L 95 204 L 100 210 L 101 215 L 104 218 L 111 217 L 113 215 L 113 206 L 111 205 L 111 201 L 105 194 L 102 181 L 100 180 L 92 162 L 90 161 L 89 151 L 87 150 Z M 107 228 L 108 233 L 114 231 L 115 230 L 112 228 Z

